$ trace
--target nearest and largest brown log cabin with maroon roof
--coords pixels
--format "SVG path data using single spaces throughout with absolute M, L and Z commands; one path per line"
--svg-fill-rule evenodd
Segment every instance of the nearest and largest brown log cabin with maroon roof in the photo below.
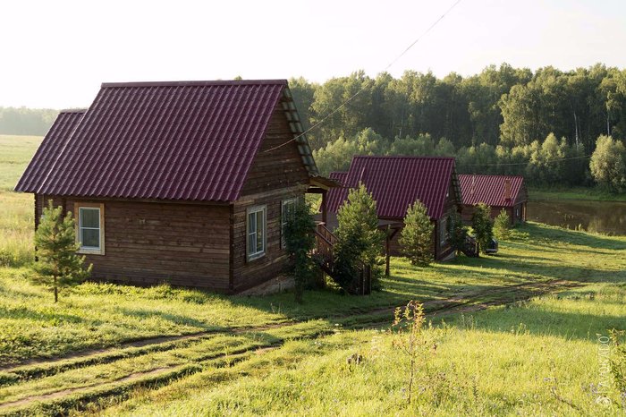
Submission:
M 283 227 L 326 193 L 287 81 L 102 84 L 15 190 L 71 211 L 93 277 L 236 293 L 280 274 Z

